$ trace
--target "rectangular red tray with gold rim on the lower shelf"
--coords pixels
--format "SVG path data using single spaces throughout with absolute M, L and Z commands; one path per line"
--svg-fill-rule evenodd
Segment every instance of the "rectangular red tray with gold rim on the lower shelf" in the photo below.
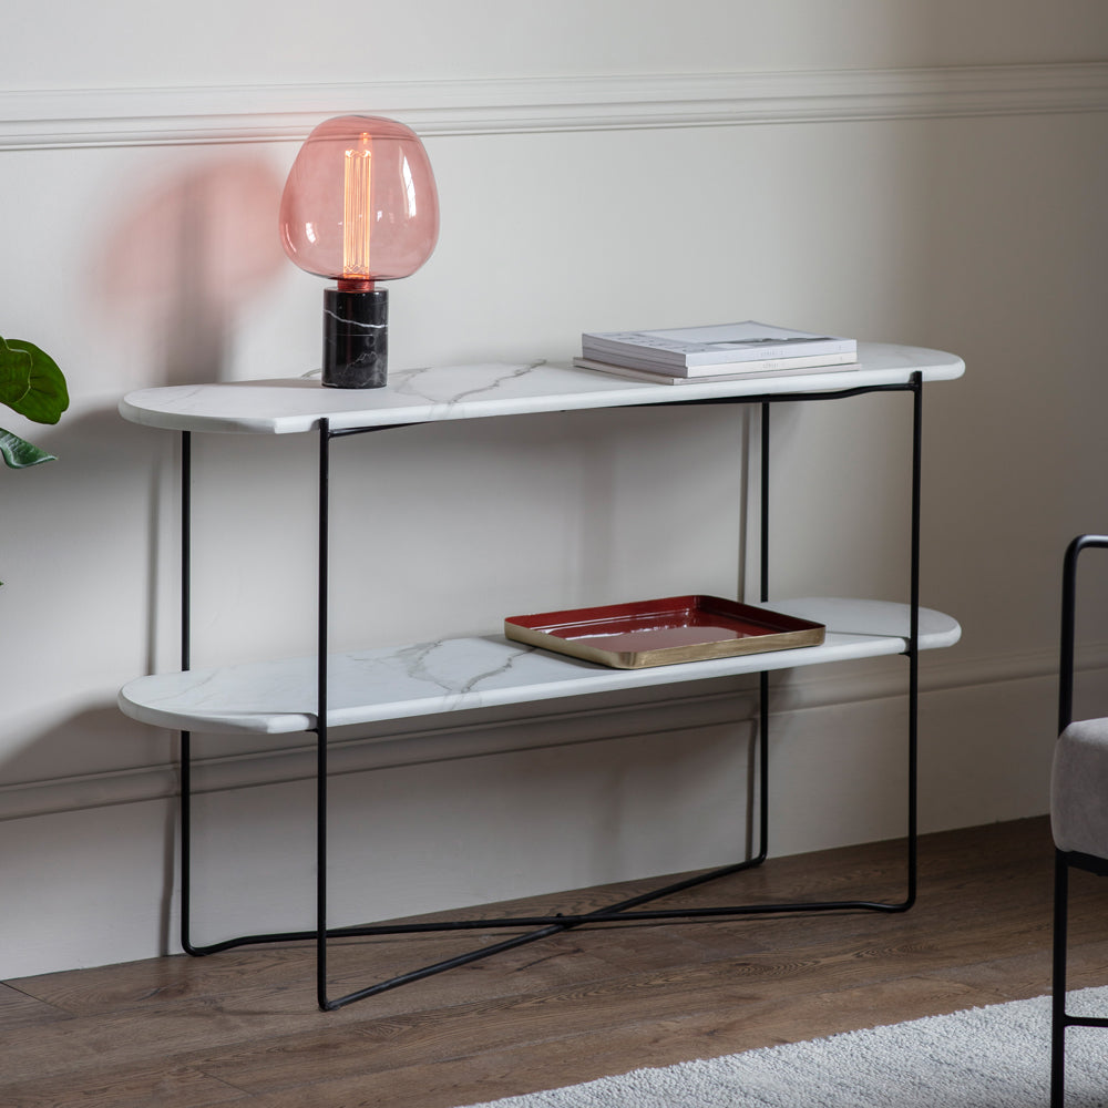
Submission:
M 570 612 L 510 616 L 504 634 L 616 669 L 819 646 L 827 628 L 719 596 L 667 596 Z

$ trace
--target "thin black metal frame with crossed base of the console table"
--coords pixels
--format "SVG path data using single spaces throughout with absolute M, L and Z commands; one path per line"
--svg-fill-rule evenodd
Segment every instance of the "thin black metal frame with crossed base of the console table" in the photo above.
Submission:
M 245 935 L 208 945 L 195 945 L 191 940 L 191 886 L 192 886 L 192 769 L 191 769 L 191 736 L 181 732 L 181 942 L 186 953 L 192 955 L 214 954 L 232 947 L 258 943 L 309 941 L 316 943 L 316 995 L 320 1009 L 334 1010 L 361 1001 L 366 997 L 397 988 L 410 982 L 420 981 L 433 974 L 455 966 L 489 957 L 501 951 L 533 943 L 550 935 L 578 927 L 589 923 L 640 922 L 644 920 L 675 920 L 726 917 L 741 915 L 769 915 L 800 912 L 830 912 L 866 910 L 874 912 L 906 912 L 916 899 L 917 871 L 917 716 L 919 716 L 919 643 L 920 643 L 920 501 L 921 501 L 921 440 L 922 440 L 922 397 L 923 375 L 914 372 L 909 381 L 902 384 L 865 386 L 853 389 L 806 392 L 792 394 L 772 394 L 763 397 L 736 397 L 718 400 L 676 400 L 668 407 L 687 407 L 688 404 L 751 404 L 761 406 L 761 474 L 760 474 L 760 593 L 761 601 L 769 599 L 769 470 L 770 470 L 770 408 L 779 402 L 800 402 L 811 400 L 840 400 L 849 397 L 875 392 L 910 392 L 913 398 L 912 409 L 912 492 L 911 492 L 911 566 L 910 566 L 910 605 L 911 623 L 907 637 L 907 648 L 903 652 L 909 659 L 909 725 L 907 725 L 907 856 L 906 889 L 904 900 L 895 902 L 842 900 L 799 903 L 741 904 L 722 907 L 688 907 L 688 909 L 652 909 L 632 911 L 640 904 L 646 904 L 664 896 L 691 889 L 717 878 L 760 865 L 768 856 L 769 838 L 769 675 L 759 675 L 759 728 L 758 728 L 758 849 L 753 856 L 740 862 L 720 866 L 708 873 L 668 884 L 664 888 L 633 896 L 608 907 L 586 913 L 568 913 L 538 916 L 514 916 L 496 919 L 455 920 L 439 923 L 384 924 L 350 927 L 328 927 L 327 925 L 327 780 L 328 780 L 328 741 L 327 741 L 327 645 L 328 645 L 328 545 L 329 545 L 329 472 L 330 443 L 334 439 L 353 434 L 362 434 L 378 430 L 392 430 L 411 424 L 391 424 L 387 428 L 353 428 L 331 430 L 329 421 L 321 419 L 319 423 L 319 581 L 318 581 L 318 704 L 316 732 L 316 927 L 312 931 L 281 932 L 263 935 Z M 650 406 L 659 407 L 659 406 Z M 191 432 L 182 432 L 182 669 L 191 665 L 191 474 L 192 445 Z M 448 931 L 488 931 L 493 929 L 534 929 L 524 934 L 515 935 L 503 942 L 483 946 L 466 952 L 453 958 L 448 958 L 432 965 L 423 966 L 410 973 L 400 974 L 369 987 L 357 989 L 339 997 L 330 997 L 327 992 L 327 944 L 329 938 L 413 934 L 422 932 Z

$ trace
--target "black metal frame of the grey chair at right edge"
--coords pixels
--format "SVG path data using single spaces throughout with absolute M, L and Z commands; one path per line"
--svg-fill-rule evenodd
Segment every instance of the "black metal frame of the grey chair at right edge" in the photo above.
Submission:
M 1074 639 L 1077 622 L 1077 563 L 1081 551 L 1108 547 L 1108 535 L 1078 535 L 1066 548 L 1061 572 L 1061 649 L 1058 664 L 1058 733 L 1074 718 Z M 1050 1108 L 1066 1098 L 1066 1028 L 1108 1027 L 1101 1016 L 1075 1016 L 1066 1010 L 1066 937 L 1069 923 L 1069 870 L 1108 876 L 1108 860 L 1080 851 L 1054 852 L 1054 950 L 1050 1004 Z

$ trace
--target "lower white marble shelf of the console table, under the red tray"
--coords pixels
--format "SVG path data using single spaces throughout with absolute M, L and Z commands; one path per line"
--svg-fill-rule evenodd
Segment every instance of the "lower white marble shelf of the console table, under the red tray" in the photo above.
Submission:
M 501 635 L 332 654 L 328 726 L 673 685 L 902 654 L 911 609 L 883 601 L 806 597 L 767 605 L 825 624 L 821 646 L 649 669 L 609 669 Z M 957 620 L 920 609 L 920 648 L 953 646 Z M 225 735 L 308 731 L 316 725 L 316 658 L 248 663 L 140 677 L 120 691 L 122 711 L 144 724 Z

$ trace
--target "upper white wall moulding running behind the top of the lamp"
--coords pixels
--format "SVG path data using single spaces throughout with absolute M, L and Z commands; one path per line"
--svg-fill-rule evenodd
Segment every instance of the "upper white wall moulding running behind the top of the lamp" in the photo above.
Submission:
M 1108 111 L 1108 62 L 0 92 L 0 150 L 299 141 L 346 112 L 421 135 Z

